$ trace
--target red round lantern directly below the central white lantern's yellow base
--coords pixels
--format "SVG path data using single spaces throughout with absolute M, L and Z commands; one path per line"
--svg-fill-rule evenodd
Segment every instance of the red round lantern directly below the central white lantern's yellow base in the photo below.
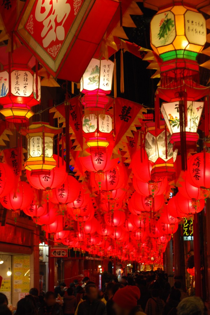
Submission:
M 89 156 L 79 157 L 83 167 L 89 172 L 106 172 L 113 169 L 118 159 L 110 159 L 112 156 L 113 145 L 109 144 L 106 148 L 95 147 L 87 149 Z

